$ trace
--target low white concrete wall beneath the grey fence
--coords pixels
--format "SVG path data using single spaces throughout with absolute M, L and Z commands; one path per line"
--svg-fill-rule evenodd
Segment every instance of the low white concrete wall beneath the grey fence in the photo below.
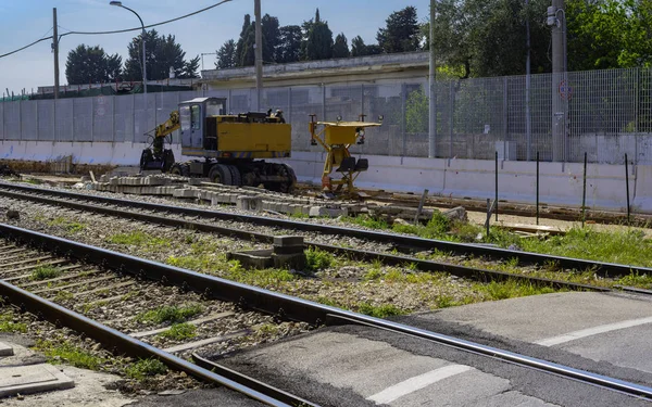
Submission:
M 137 166 L 143 143 L 108 142 L 0 142 L 0 158 L 48 161 L 73 155 L 74 163 Z M 177 161 L 185 160 L 175 147 Z M 494 194 L 494 162 L 473 160 L 416 158 L 371 155 L 369 170 L 356 185 L 365 188 L 430 194 L 486 199 Z M 287 161 L 302 181 L 321 185 L 323 153 L 293 152 Z M 334 173 L 334 176 L 336 174 Z M 582 164 L 541 163 L 540 202 L 578 207 L 582 195 Z M 632 211 L 652 214 L 652 166 L 630 167 L 629 194 Z M 534 203 L 536 164 L 534 162 L 499 162 L 499 199 Z M 625 167 L 589 164 L 587 206 L 595 209 L 625 211 Z

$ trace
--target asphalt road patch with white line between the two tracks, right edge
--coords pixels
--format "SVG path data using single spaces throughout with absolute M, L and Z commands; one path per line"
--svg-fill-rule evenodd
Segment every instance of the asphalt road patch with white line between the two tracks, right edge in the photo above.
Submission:
M 447 308 L 414 316 L 553 347 L 652 373 L 652 300 L 616 293 L 555 293 Z M 641 379 L 642 380 L 642 379 Z

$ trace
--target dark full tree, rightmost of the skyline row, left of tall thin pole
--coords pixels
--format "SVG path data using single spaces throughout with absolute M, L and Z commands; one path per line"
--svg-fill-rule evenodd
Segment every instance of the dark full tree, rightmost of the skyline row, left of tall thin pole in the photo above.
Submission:
M 416 9 L 412 5 L 393 12 L 386 21 L 387 26 L 376 35 L 378 46 L 387 52 L 416 51 L 419 47 L 421 30 Z

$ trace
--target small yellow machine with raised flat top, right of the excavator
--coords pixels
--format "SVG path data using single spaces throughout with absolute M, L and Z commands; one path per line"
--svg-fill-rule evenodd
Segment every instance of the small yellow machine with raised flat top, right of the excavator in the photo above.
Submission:
M 342 122 L 339 116 L 337 122 L 316 122 L 315 117 L 314 114 L 310 115 L 310 142 L 312 145 L 322 145 L 326 151 L 326 162 L 322 174 L 322 190 L 326 193 L 343 192 L 349 198 L 353 198 L 356 192 L 353 182 L 360 173 L 368 169 L 369 162 L 366 158 L 356 161 L 355 157 L 351 156 L 349 147 L 364 144 L 364 129 L 380 126 L 383 116 L 378 117 L 379 123 L 364 122 L 365 115 L 360 115 L 359 122 Z M 317 132 L 317 126 L 324 126 L 324 128 Z M 330 177 L 334 168 L 336 168 L 336 173 L 341 174 L 340 179 Z

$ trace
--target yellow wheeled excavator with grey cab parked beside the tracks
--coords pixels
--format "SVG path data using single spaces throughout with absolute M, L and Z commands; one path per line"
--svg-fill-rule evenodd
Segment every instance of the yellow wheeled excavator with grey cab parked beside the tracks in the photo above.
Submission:
M 148 133 L 151 145 L 142 151 L 141 169 L 187 177 L 208 177 L 231 186 L 263 185 L 290 192 L 297 183 L 292 168 L 261 158 L 286 158 L 291 151 L 291 127 L 281 111 L 225 114 L 226 99 L 197 98 L 179 103 L 179 110 Z M 172 133 L 180 129 L 181 154 L 203 160 L 176 163 Z

